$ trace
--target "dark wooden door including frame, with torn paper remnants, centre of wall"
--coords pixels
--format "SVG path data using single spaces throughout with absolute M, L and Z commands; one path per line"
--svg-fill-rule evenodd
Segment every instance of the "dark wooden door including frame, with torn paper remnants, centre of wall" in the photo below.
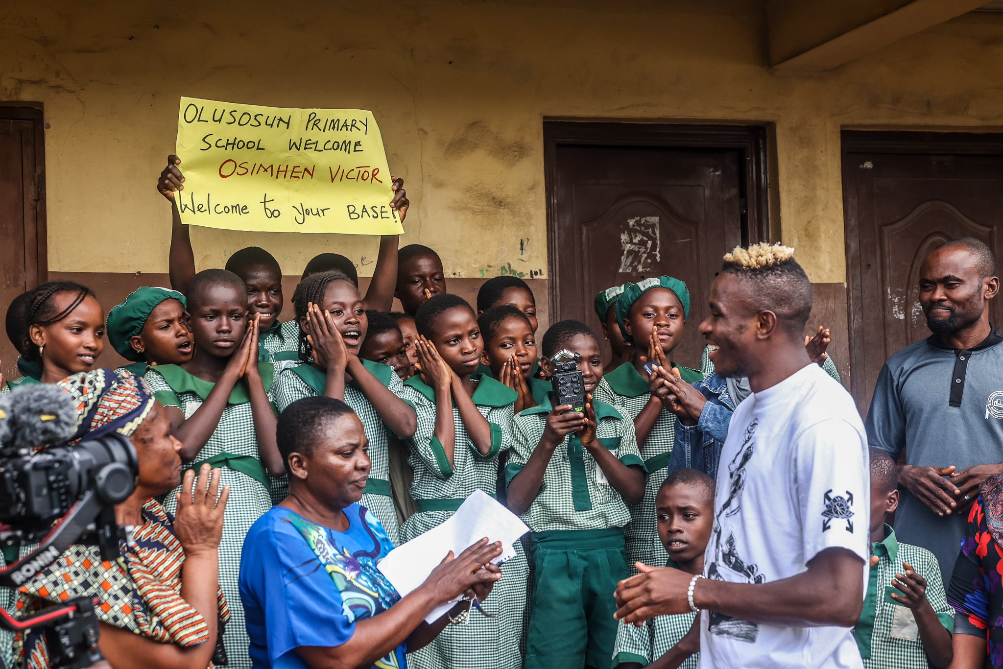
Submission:
M 691 295 L 674 357 L 698 366 L 698 326 L 721 257 L 765 236 L 762 136 L 762 128 L 545 123 L 551 322 L 598 328 L 601 290 L 674 276 Z

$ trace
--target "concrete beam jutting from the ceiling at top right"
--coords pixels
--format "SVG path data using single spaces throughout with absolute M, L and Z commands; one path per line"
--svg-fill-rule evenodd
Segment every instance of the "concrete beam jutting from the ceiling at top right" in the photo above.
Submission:
M 769 64 L 832 69 L 986 0 L 769 0 Z

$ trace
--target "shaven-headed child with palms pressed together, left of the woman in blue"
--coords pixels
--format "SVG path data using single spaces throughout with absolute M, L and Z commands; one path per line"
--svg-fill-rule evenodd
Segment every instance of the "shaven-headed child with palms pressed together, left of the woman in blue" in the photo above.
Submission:
M 163 404 L 173 433 L 184 443 L 182 459 L 197 471 L 219 466 L 233 497 L 220 542 L 220 587 L 231 622 L 223 642 L 229 666 L 250 669 L 238 577 L 248 530 L 272 508 L 273 477 L 285 472 L 276 445 L 273 381 L 288 362 L 258 362 L 260 316 L 248 315 L 247 289 L 226 270 L 204 270 L 189 284 L 195 356 L 183 365 L 157 365 L 143 376 Z M 193 460 L 197 460 L 193 462 Z M 175 491 L 164 508 L 175 512 Z

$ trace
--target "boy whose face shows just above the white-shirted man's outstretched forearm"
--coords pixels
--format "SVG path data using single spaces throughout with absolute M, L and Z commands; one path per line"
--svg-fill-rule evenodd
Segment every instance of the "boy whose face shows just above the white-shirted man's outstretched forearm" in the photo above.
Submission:
M 667 567 L 703 574 L 703 553 L 714 528 L 714 479 L 696 469 L 669 474 L 655 498 L 658 538 L 669 553 Z M 640 627 L 620 625 L 614 669 L 696 669 L 700 628 L 696 614 L 656 616 Z

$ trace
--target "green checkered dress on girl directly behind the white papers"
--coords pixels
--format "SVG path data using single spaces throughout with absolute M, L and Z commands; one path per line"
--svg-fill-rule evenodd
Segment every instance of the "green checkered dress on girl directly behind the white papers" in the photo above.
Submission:
M 418 428 L 410 439 L 408 461 L 414 469 L 411 496 L 417 504 L 414 513 L 400 528 L 402 541 L 414 539 L 442 524 L 476 489 L 495 494 L 498 478 L 498 454 L 512 446 L 513 406 L 516 391 L 494 379 L 473 374 L 476 383 L 473 403 L 491 427 L 491 448 L 486 456 L 470 442 L 459 411 L 453 407 L 456 436 L 453 461 L 445 456 L 435 437 L 435 391 L 413 376 L 404 382 L 401 397 L 414 407 Z M 483 604 L 495 618 L 486 618 L 476 610 L 465 625 L 446 628 L 421 650 L 409 653 L 412 669 L 522 669 L 521 642 L 526 613 L 526 588 L 529 567 L 521 543 L 516 557 L 501 566 L 501 580 L 494 585 Z

